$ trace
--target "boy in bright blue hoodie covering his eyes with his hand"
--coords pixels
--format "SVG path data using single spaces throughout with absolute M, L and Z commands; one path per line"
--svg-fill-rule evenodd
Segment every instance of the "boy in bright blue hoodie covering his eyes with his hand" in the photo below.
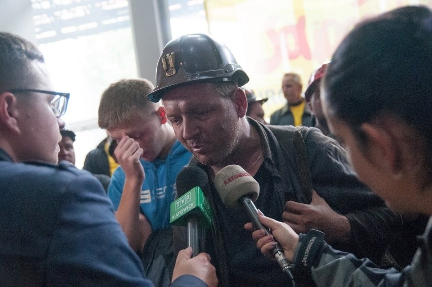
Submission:
M 129 244 L 138 254 L 146 253 L 146 244 L 164 245 L 167 266 L 156 269 L 170 270 L 174 259 L 169 207 L 177 193 L 177 173 L 188 164 L 191 153 L 176 140 L 164 106 L 143 97 L 153 88 L 145 79 L 111 84 L 102 94 L 98 123 L 118 143 L 114 153 L 120 167 L 113 173 L 108 195 Z M 152 266 L 146 264 L 148 256 L 142 258 L 145 268 Z M 153 271 L 146 272 L 151 277 Z M 170 282 L 171 274 L 157 273 L 154 282 Z

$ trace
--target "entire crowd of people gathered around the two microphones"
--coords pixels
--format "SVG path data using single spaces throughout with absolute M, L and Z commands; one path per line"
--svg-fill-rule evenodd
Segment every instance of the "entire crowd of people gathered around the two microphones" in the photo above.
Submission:
M 431 67 L 432 11 L 391 10 L 358 23 L 304 97 L 284 74 L 286 105 L 267 124 L 268 98 L 243 87 L 229 47 L 182 35 L 155 86 L 103 91 L 108 136 L 80 170 L 61 119 L 69 94 L 53 91 L 34 44 L 0 32 L 0 284 L 432 285 Z M 270 235 L 221 199 L 215 176 L 233 164 L 258 183 Z M 169 223 L 184 166 L 209 180 L 197 256 L 188 228 Z

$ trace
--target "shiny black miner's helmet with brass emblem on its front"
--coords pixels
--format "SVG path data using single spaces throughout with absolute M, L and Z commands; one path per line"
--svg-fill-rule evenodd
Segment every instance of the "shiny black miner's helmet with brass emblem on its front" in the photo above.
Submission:
M 195 82 L 249 81 L 227 46 L 206 34 L 187 34 L 166 44 L 156 68 L 156 87 L 147 98 L 158 102 L 167 90 Z

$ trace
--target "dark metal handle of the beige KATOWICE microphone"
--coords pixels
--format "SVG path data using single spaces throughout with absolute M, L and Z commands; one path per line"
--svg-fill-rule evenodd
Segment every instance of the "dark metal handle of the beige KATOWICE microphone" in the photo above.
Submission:
M 243 196 L 239 199 L 240 203 L 245 207 L 247 210 L 247 213 L 249 214 L 249 218 L 252 221 L 252 224 L 256 229 L 263 229 L 266 235 L 270 235 L 270 230 L 261 224 L 261 222 L 258 220 L 258 209 L 255 206 L 254 202 L 247 196 Z M 286 259 L 285 255 L 283 254 L 283 249 L 280 246 L 279 243 L 272 249 L 273 257 L 276 259 L 279 266 L 282 268 L 284 272 L 288 274 L 290 279 L 293 279 L 293 274 L 291 273 L 291 264 Z

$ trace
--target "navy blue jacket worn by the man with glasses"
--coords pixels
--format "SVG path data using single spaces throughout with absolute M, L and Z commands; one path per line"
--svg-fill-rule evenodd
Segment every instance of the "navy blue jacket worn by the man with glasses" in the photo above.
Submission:
M 102 185 L 69 162 L 0 149 L 0 286 L 153 286 Z M 171 286 L 206 286 L 195 276 Z

